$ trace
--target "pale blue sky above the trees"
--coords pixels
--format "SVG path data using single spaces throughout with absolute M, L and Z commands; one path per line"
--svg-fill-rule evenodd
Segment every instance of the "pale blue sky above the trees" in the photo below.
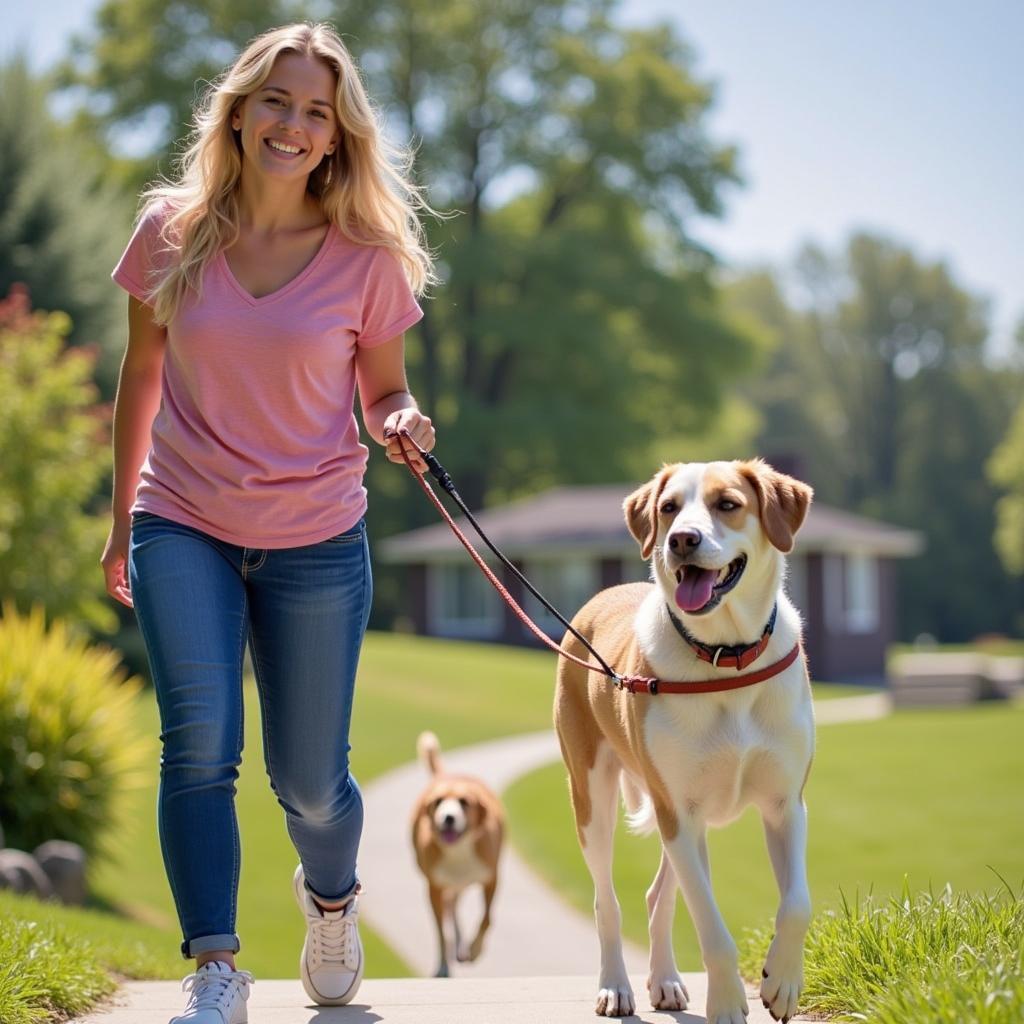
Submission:
M 96 7 L 18 4 L 4 36 L 43 68 Z M 713 136 L 740 148 L 745 185 L 697 237 L 744 265 L 785 260 L 807 239 L 837 248 L 855 227 L 885 232 L 988 296 L 1006 348 L 1024 319 L 1021 0 L 624 0 L 621 11 L 679 27 L 719 86 Z

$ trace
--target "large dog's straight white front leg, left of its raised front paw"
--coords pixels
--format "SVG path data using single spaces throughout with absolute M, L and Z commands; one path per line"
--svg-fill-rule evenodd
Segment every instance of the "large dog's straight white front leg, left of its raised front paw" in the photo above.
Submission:
M 712 892 L 703 825 L 680 821 L 675 839 L 665 842 L 665 851 L 683 890 L 708 970 L 708 1024 L 745 1024 L 746 991 L 739 977 L 736 943 Z

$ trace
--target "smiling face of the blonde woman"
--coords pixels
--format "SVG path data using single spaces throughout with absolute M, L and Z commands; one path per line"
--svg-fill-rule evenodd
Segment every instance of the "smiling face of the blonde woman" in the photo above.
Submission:
M 281 54 L 231 114 L 245 166 L 273 178 L 308 177 L 338 146 L 336 87 L 334 71 L 317 57 Z

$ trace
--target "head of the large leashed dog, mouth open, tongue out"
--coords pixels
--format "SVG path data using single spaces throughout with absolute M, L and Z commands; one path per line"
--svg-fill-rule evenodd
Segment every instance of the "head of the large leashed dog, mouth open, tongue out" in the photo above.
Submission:
M 626 499 L 670 607 L 707 615 L 779 579 L 812 490 L 760 459 L 666 466 Z

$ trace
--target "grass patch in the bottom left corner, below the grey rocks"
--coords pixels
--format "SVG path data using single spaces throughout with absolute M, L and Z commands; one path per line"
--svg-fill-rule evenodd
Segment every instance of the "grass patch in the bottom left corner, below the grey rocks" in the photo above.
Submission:
M 0 892 L 3 1024 L 74 1016 L 112 992 L 115 975 L 160 978 L 180 964 L 158 929 Z

